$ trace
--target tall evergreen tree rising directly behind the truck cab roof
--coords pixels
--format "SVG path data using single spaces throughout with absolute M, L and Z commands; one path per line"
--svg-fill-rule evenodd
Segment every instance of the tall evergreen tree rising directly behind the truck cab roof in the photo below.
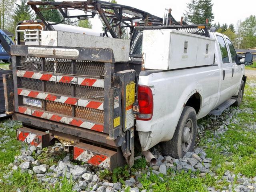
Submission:
M 184 14 L 185 21 L 193 24 L 204 24 L 208 19 L 210 25 L 214 20 L 212 6 L 212 0 L 191 0 L 187 4 L 188 11 Z

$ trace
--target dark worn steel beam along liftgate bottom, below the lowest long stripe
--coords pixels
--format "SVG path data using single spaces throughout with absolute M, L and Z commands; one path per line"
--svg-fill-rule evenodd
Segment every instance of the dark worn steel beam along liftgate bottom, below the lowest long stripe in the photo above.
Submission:
M 66 125 L 58 122 L 52 122 L 49 120 L 44 120 L 44 119 L 36 118 L 33 116 L 25 115 L 25 114 L 14 113 L 13 118 L 14 120 L 21 121 L 23 124 L 27 126 L 64 133 L 66 134 L 66 137 L 68 137 L 68 135 L 72 135 L 72 136 L 78 137 L 78 139 L 80 138 L 83 140 L 97 142 L 104 146 L 111 146 L 111 147 L 116 146 L 113 140 L 108 139 L 108 134 L 104 134 L 104 133 L 100 133 L 100 132 L 96 132 L 96 131 L 92 131 L 84 128 L 79 128 L 75 126 L 70 126 L 70 125 Z

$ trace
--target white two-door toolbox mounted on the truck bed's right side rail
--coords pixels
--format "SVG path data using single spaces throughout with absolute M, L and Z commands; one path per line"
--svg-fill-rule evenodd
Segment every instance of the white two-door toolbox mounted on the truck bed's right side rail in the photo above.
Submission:
M 214 63 L 215 39 L 173 29 L 144 30 L 146 69 L 171 70 Z

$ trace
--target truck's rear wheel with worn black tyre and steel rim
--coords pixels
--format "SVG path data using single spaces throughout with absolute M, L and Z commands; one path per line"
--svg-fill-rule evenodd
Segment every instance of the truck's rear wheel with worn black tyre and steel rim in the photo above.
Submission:
M 173 138 L 163 142 L 163 154 L 174 158 L 182 158 L 186 152 L 194 148 L 197 132 L 196 111 L 192 107 L 185 106 L 176 127 Z

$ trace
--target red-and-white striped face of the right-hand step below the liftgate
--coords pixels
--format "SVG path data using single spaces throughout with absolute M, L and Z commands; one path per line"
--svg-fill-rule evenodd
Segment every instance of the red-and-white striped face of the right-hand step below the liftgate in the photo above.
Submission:
M 74 146 L 73 158 L 74 160 L 87 162 L 94 166 L 110 169 L 110 157 L 102 154 L 97 154 L 89 150 L 84 150 L 76 146 Z

